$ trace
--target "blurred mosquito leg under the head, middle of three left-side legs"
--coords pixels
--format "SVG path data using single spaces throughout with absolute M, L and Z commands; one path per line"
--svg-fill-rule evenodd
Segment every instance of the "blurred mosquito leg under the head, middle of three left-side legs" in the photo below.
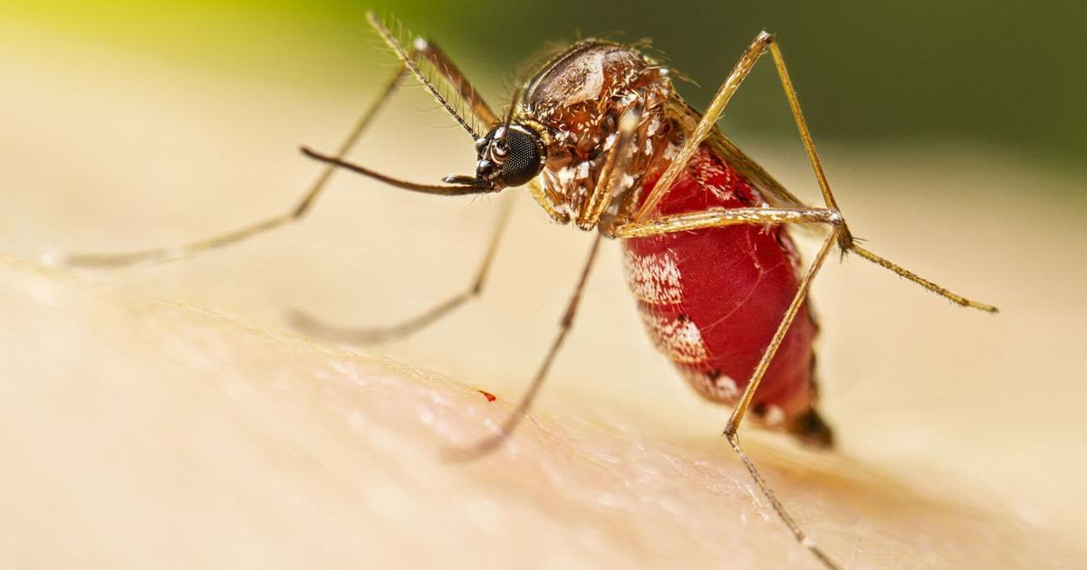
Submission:
M 513 198 L 514 195 L 511 194 L 510 198 L 504 200 L 502 210 L 499 212 L 498 220 L 496 221 L 495 231 L 490 237 L 490 244 L 487 246 L 487 253 L 484 255 L 483 263 L 479 264 L 479 269 L 476 270 L 475 279 L 472 280 L 467 289 L 412 318 L 386 327 L 362 329 L 338 327 L 297 311 L 290 313 L 291 325 L 310 335 L 342 344 L 377 344 L 410 337 L 436 322 L 441 317 L 452 313 L 464 303 L 483 293 L 484 284 L 490 275 L 490 266 L 495 259 L 495 253 L 498 251 L 498 244 L 502 240 L 510 214 L 513 211 Z

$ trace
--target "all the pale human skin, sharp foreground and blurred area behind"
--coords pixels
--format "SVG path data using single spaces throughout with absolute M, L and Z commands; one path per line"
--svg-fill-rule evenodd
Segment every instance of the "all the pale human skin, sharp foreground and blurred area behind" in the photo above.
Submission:
M 2 566 L 816 567 L 717 435 L 727 409 L 644 338 L 615 248 L 530 420 L 492 456 L 448 465 L 441 449 L 489 433 L 520 396 L 586 236 L 522 201 L 480 301 L 360 349 L 308 339 L 284 315 L 373 325 L 455 292 L 492 201 L 340 176 L 305 224 L 229 251 L 49 267 L 38 254 L 173 243 L 277 212 L 314 172 L 290 147 L 330 145 L 357 102 L 283 115 L 260 86 L 4 64 L 21 78 L 4 107 L 49 112 L 0 142 L 3 249 L 20 253 L 0 258 Z M 471 165 L 457 132 L 413 137 L 426 121 L 410 109 L 359 156 L 418 179 Z M 416 160 L 442 149 L 458 151 Z M 1070 355 L 1084 271 L 1069 252 L 1084 207 L 1021 191 L 1073 182 L 961 151 L 827 155 L 869 246 L 1003 313 L 832 264 L 815 309 L 840 446 L 816 454 L 746 428 L 749 453 L 847 566 L 1078 566 L 1087 388 Z M 788 156 L 775 173 L 810 185 Z

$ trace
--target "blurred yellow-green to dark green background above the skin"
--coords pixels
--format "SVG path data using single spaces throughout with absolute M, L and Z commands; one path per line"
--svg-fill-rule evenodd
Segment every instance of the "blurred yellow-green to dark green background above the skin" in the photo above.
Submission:
M 701 85 L 682 90 L 703 105 L 765 28 L 778 34 L 817 140 L 969 142 L 1062 169 L 1087 156 L 1082 1 L 8 0 L 0 24 L 192 73 L 368 93 L 389 61 L 365 24 L 371 9 L 446 47 L 496 106 L 513 69 L 547 41 L 599 34 L 652 38 Z M 760 67 L 724 124 L 790 135 L 772 66 Z

